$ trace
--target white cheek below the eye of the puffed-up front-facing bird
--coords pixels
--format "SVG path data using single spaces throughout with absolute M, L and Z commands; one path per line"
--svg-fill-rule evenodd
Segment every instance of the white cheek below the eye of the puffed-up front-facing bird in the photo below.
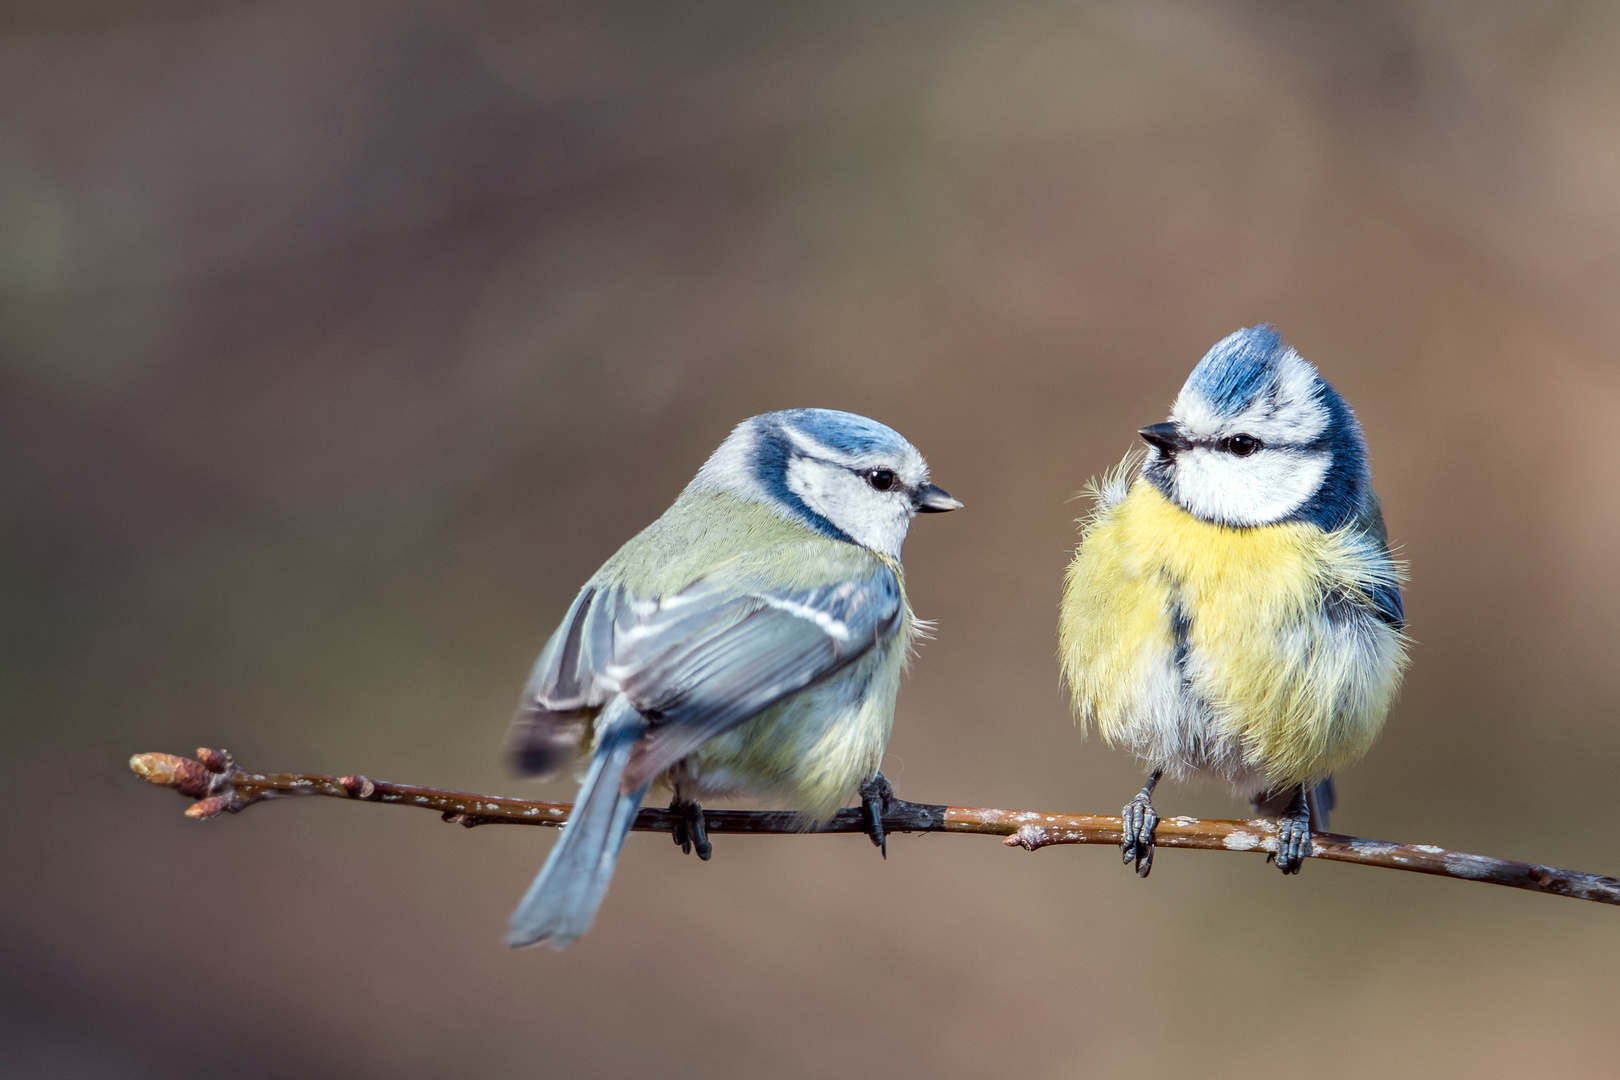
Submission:
M 1317 492 L 1328 463 L 1327 453 L 1187 450 L 1176 457 L 1176 502 L 1207 521 L 1270 525 Z

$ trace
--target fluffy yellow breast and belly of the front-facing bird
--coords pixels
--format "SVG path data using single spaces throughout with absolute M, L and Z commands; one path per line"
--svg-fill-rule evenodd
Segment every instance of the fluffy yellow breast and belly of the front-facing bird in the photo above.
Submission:
M 1354 529 L 1212 525 L 1139 479 L 1069 565 L 1059 643 L 1076 711 L 1147 758 L 1174 756 L 1166 722 L 1207 716 L 1184 743 L 1230 740 L 1273 785 L 1320 779 L 1366 753 L 1400 687 L 1405 641 L 1371 612 L 1395 575 Z

